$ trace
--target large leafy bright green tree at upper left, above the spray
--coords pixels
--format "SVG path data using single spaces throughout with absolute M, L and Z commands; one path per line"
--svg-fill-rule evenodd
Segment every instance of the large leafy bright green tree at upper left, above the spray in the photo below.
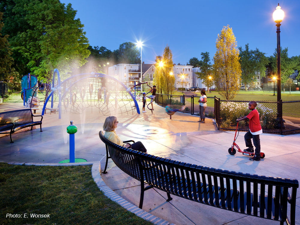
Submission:
M 66 73 L 86 62 L 88 39 L 71 4 L 31 0 L 24 9 L 31 27 L 17 35 L 22 46 L 14 49 L 29 59 L 28 66 L 39 79 L 50 78 L 54 68 Z

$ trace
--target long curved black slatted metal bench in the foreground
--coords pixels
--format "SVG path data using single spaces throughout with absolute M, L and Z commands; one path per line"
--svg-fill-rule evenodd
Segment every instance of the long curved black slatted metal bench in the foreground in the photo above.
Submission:
M 107 140 L 108 158 L 129 176 L 141 182 L 140 208 L 144 191 L 157 188 L 185 199 L 241 214 L 295 224 L 298 180 L 251 175 L 188 164 L 149 155 Z M 109 156 L 110 155 L 110 156 Z M 149 186 L 145 187 L 144 185 Z M 289 191 L 291 195 L 289 195 Z M 288 210 L 288 204 L 290 209 Z M 289 214 L 289 217 L 287 215 Z

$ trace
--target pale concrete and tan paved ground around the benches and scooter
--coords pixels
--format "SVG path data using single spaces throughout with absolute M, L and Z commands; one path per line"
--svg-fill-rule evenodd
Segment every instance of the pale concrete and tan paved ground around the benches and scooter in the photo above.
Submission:
M 141 107 L 142 105 L 140 105 Z M 1 104 L 0 112 L 23 108 L 21 104 Z M 234 132 L 217 131 L 211 119 L 199 124 L 198 117 L 175 113 L 172 120 L 164 108 L 154 105 L 151 111 L 137 115 L 117 116 L 116 130 L 122 140 L 142 141 L 148 153 L 177 161 L 204 165 L 224 170 L 265 176 L 300 180 L 300 134 L 280 136 L 261 135 L 262 151 L 265 158 L 260 162 L 249 161 L 249 157 L 236 153 L 228 154 Z M 38 115 L 38 114 L 37 114 Z M 44 115 L 42 129 L 20 132 L 0 138 L 0 161 L 57 163 L 69 158 L 66 127 L 70 120 L 78 127 L 75 134 L 76 158 L 100 161 L 105 166 L 106 150 L 98 137 L 106 116 L 99 113 L 85 115 L 58 114 Z M 237 144 L 245 148 L 244 132 L 240 132 Z M 104 182 L 119 196 L 139 205 L 139 182 L 122 172 L 110 161 L 108 173 L 102 174 Z M 296 200 L 296 224 L 300 224 L 300 191 Z M 145 192 L 143 209 L 175 224 L 274 224 L 244 214 L 202 205 L 176 196 L 166 202 L 167 194 L 156 189 Z

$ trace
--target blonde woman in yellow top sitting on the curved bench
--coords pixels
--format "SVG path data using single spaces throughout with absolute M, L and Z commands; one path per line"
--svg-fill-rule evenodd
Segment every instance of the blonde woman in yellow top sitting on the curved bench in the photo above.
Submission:
M 115 117 L 115 116 L 107 117 L 105 119 L 104 125 L 103 125 L 103 130 L 105 131 L 104 137 L 117 145 L 123 146 L 122 140 L 118 137 L 118 135 L 116 134 L 116 131 L 115 131 L 115 129 L 118 126 L 118 123 L 119 123 L 119 121 L 117 121 L 117 117 Z M 125 143 L 124 147 L 127 147 L 127 148 L 131 147 L 131 149 L 133 149 L 133 150 L 147 153 L 147 149 L 145 148 L 143 143 L 140 141 L 133 143 L 131 146 L 130 146 L 130 144 Z

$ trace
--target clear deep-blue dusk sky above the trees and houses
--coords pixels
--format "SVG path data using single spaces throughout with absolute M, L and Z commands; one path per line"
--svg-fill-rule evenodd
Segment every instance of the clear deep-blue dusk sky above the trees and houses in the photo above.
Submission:
M 201 52 L 216 51 L 223 26 L 232 27 L 237 45 L 258 48 L 267 56 L 276 48 L 276 23 L 272 14 L 279 3 L 285 16 L 280 42 L 289 57 L 300 55 L 299 0 L 236 1 L 97 1 L 61 0 L 71 3 L 84 24 L 91 46 L 115 50 L 124 42 L 142 41 L 142 61 L 153 63 L 168 44 L 173 63 L 186 64 Z

